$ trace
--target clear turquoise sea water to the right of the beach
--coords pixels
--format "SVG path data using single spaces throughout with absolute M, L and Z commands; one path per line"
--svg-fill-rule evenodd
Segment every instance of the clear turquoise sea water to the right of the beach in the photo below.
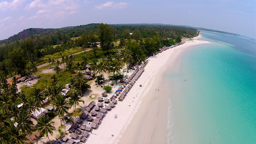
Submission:
M 255 41 L 200 34 L 212 43 L 193 46 L 165 74 L 169 143 L 256 143 Z

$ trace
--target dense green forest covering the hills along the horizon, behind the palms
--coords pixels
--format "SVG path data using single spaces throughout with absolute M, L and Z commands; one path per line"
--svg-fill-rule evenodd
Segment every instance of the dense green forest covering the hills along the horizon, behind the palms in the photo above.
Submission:
M 113 42 L 123 40 L 140 41 L 140 47 L 145 47 L 144 55 L 156 52 L 163 45 L 175 44 L 181 38 L 191 38 L 198 35 L 196 28 L 186 28 L 171 25 L 150 24 L 116 24 L 101 25 L 92 23 L 75 27 L 56 29 L 28 28 L 0 41 L 0 70 L 4 75 L 24 73 L 29 63 L 36 63 L 41 57 L 76 47 L 96 48 L 100 42 L 103 54 L 105 50 L 115 46 Z M 123 43 L 123 44 L 122 44 Z M 54 46 L 55 45 L 55 46 Z M 105 55 L 106 55 L 105 54 Z

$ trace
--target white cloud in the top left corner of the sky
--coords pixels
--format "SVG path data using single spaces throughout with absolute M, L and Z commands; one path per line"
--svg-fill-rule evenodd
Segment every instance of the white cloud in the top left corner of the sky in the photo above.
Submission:
M 0 3 L 0 10 L 17 10 L 19 7 L 22 6 L 22 3 L 24 3 L 25 0 L 12 0 L 11 2 L 8 1 L 2 1 Z

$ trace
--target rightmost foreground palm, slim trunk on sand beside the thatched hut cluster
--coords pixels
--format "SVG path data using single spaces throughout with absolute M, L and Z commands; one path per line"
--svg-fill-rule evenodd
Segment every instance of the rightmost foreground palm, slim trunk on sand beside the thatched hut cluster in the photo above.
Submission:
M 73 105 L 74 111 L 75 111 L 75 120 L 76 120 L 76 105 L 79 105 L 79 102 L 83 102 L 84 100 L 81 100 L 82 95 L 79 95 L 77 91 L 72 91 L 70 93 L 70 98 L 68 100 L 69 105 Z

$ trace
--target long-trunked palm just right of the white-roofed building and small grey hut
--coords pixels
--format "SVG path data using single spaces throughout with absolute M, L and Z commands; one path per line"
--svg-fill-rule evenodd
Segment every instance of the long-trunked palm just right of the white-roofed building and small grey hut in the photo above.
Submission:
M 70 108 L 66 106 L 66 103 L 67 101 L 65 100 L 65 98 L 59 94 L 57 96 L 57 101 L 55 103 L 55 107 L 56 107 L 55 110 L 58 113 L 59 117 L 62 116 L 65 134 L 66 134 L 66 128 L 65 128 L 65 122 L 64 122 L 64 113 L 68 114 L 68 109 Z M 61 123 L 61 119 L 60 119 L 60 123 Z

